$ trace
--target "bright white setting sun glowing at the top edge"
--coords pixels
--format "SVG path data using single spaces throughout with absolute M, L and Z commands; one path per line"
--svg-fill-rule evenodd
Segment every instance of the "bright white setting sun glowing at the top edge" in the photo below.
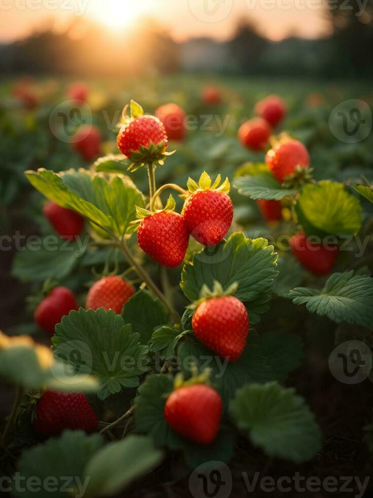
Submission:
M 121 29 L 149 14 L 152 6 L 153 0 L 95 0 L 90 4 L 89 14 L 108 28 Z

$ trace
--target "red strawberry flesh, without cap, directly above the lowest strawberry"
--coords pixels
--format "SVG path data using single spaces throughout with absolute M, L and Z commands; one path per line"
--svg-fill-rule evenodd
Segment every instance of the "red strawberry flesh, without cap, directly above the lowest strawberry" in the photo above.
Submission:
M 249 315 L 234 296 L 213 297 L 199 304 L 192 318 L 195 336 L 229 361 L 238 359 L 246 346 Z

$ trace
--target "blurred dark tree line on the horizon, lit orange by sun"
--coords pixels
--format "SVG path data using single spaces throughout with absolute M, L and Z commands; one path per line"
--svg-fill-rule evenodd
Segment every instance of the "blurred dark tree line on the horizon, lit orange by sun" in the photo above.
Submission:
M 326 0 L 328 2 L 329 0 Z M 331 1 L 331 0 L 330 0 Z M 63 34 L 52 29 L 0 48 L 3 73 L 138 75 L 149 69 L 173 72 L 207 69 L 244 74 L 373 77 L 373 0 L 332 0 L 325 16 L 331 35 L 318 40 L 288 38 L 274 43 L 250 20 L 239 21 L 231 40 L 176 43 L 146 19 L 120 39 L 79 21 Z M 218 61 L 218 62 L 217 62 Z

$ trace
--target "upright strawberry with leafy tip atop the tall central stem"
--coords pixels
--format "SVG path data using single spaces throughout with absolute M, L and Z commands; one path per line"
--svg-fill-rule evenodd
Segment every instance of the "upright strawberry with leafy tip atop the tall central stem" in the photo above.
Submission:
M 117 135 L 118 149 L 134 162 L 149 163 L 161 159 L 168 138 L 163 123 L 155 116 L 144 114 L 143 108 L 131 101 L 131 117 L 126 117 Z

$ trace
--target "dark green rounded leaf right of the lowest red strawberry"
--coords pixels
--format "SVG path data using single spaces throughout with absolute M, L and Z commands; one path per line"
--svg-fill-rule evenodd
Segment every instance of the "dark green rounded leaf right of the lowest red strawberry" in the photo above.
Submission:
M 229 413 L 238 428 L 269 456 L 302 463 L 321 449 L 314 415 L 294 389 L 276 382 L 244 386 L 230 402 Z

